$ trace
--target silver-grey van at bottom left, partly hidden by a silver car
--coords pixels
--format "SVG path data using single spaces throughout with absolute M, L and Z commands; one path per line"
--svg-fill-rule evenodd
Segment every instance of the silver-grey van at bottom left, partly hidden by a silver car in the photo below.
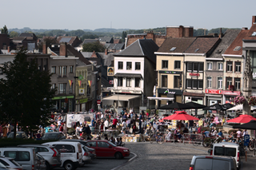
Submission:
M 38 160 L 34 148 L 0 148 L 0 156 L 13 158 L 26 170 L 35 170 L 40 167 L 40 160 Z

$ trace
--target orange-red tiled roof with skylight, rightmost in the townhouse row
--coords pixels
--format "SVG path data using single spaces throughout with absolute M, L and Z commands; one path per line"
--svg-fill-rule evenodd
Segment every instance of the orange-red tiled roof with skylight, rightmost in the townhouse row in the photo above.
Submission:
M 234 39 L 234 42 L 231 43 L 231 45 L 226 49 L 226 52 L 224 54 L 242 55 L 242 39 L 246 37 L 246 34 L 248 34 L 248 32 L 249 30 L 241 30 L 237 38 Z M 234 51 L 234 48 L 237 46 L 241 46 L 241 49 L 239 49 L 238 51 Z

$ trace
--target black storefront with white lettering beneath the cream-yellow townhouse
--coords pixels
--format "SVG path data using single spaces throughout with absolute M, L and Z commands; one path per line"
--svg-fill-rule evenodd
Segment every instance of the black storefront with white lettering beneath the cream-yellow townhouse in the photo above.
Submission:
M 182 103 L 182 90 L 181 89 L 158 89 L 158 97 L 174 98 L 174 101 L 159 101 L 161 105 L 166 105 L 170 102 Z

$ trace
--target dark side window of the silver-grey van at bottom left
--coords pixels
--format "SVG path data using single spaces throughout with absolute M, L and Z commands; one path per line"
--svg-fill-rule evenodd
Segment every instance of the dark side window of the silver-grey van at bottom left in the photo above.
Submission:
M 5 151 L 4 156 L 14 158 L 15 161 L 30 161 L 30 152 Z

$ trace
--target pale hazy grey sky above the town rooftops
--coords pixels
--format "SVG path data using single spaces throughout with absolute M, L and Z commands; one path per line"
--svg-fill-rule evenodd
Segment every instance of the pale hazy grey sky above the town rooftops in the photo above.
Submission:
M 0 28 L 149 29 L 251 26 L 255 0 L 1 0 Z

